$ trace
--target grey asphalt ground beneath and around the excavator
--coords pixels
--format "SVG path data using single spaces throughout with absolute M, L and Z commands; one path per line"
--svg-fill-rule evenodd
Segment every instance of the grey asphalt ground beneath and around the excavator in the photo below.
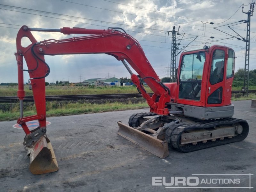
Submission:
M 256 108 L 251 100 L 233 104 L 233 117 L 250 126 L 244 141 L 190 153 L 169 148 L 165 159 L 116 134 L 117 121 L 128 124 L 148 108 L 47 118 L 59 171 L 42 175 L 29 172 L 25 133 L 12 127 L 16 121 L 0 122 L 0 191 L 256 191 Z

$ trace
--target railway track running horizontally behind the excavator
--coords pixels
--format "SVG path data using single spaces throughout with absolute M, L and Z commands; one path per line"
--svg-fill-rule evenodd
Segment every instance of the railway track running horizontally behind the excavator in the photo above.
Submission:
M 256 90 L 251 90 L 249 93 L 255 93 Z M 232 91 L 232 93 L 243 93 L 242 91 Z M 150 96 L 153 93 L 149 93 Z M 63 101 L 63 100 L 100 100 L 100 99 L 128 99 L 128 98 L 140 98 L 140 93 L 128 93 L 128 94 L 103 94 L 103 95 L 55 95 L 46 96 L 46 101 Z M 12 97 L 0 97 L 0 103 L 15 103 L 19 99 L 16 96 Z M 34 102 L 33 96 L 26 96 L 24 102 Z

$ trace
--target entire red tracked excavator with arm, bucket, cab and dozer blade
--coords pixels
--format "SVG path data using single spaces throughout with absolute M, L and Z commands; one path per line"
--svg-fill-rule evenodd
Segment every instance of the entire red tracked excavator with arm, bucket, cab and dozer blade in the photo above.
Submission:
M 32 31 L 84 34 L 67 39 L 37 41 Z M 23 47 L 23 38 L 31 44 Z M 24 146 L 30 156 L 30 171 L 42 174 L 58 170 L 52 145 L 46 136 L 45 77 L 50 67 L 44 55 L 105 53 L 122 61 L 132 82 L 146 99 L 150 112 L 133 114 L 129 125 L 117 122 L 118 134 L 165 158 L 168 145 L 181 152 L 191 152 L 244 140 L 249 132 L 245 120 L 231 118 L 231 88 L 235 69 L 235 52 L 214 45 L 185 51 L 180 55 L 175 83 L 163 84 L 150 65 L 139 42 L 122 28 L 103 30 L 84 28 L 42 29 L 22 26 L 17 35 L 18 98 L 21 125 L 26 136 Z M 28 69 L 23 69 L 23 57 Z M 138 73 L 135 75 L 130 66 Z M 23 72 L 29 73 L 36 115 L 23 117 L 25 97 Z M 150 96 L 142 81 L 154 92 Z M 27 122 L 38 120 L 39 127 L 29 130 Z

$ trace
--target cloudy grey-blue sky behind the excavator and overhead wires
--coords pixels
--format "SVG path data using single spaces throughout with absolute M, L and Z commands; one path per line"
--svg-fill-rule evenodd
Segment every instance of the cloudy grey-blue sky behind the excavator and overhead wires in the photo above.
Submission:
M 0 0 L 0 83 L 18 82 L 14 52 L 16 52 L 16 35 L 23 25 L 31 28 L 56 29 L 123 28 L 140 42 L 160 78 L 169 76 L 172 36 L 171 34 L 168 36 L 168 31 L 172 31 L 175 26 L 176 30 L 179 28 L 180 33 L 176 35 L 177 43 L 180 43 L 178 52 L 184 48 L 184 50 L 202 48 L 205 44 L 225 45 L 236 52 L 235 70 L 244 68 L 245 42 L 232 36 L 239 34 L 246 38 L 246 24 L 238 21 L 247 20 L 247 14 L 242 12 L 242 4 L 244 4 L 244 12 L 248 12 L 250 6 L 245 5 L 251 2 L 251 0 Z M 250 70 L 256 68 L 255 21 L 256 15 L 251 17 Z M 211 25 L 210 22 L 215 24 Z M 228 28 L 231 25 L 233 30 Z M 216 27 L 223 32 L 214 29 Z M 71 37 L 52 32 L 33 32 L 33 35 L 37 41 Z M 105 54 L 45 56 L 45 61 L 51 68 L 50 75 L 46 77 L 47 82 L 56 80 L 79 82 L 108 76 L 130 77 L 121 61 Z M 28 78 L 28 73 L 25 72 L 24 82 L 27 82 Z

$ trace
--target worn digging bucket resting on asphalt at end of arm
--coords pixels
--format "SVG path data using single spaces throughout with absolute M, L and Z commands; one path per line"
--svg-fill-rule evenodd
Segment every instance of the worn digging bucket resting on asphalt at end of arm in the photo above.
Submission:
M 39 175 L 59 170 L 52 144 L 47 137 L 42 136 L 29 151 L 31 173 Z

